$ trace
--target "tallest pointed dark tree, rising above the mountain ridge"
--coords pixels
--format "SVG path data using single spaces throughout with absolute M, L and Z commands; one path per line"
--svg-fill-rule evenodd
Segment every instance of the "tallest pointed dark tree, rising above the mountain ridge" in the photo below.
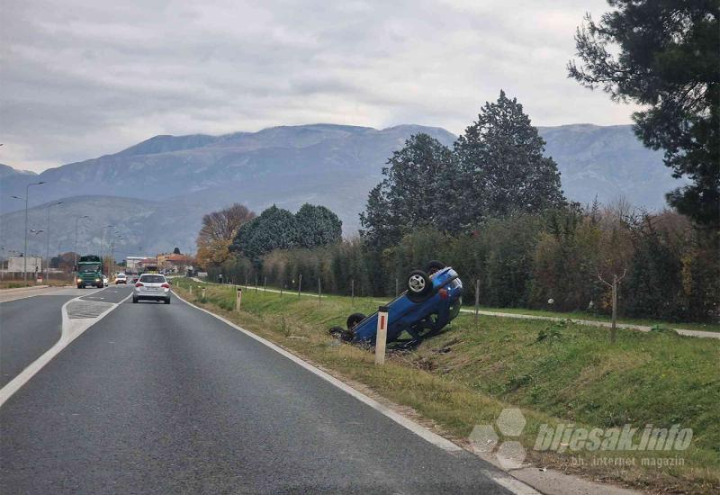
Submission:
M 478 120 L 455 142 L 464 228 L 511 211 L 540 211 L 565 202 L 560 172 L 544 157 L 545 140 L 530 124 L 523 106 L 504 91 L 485 103 Z

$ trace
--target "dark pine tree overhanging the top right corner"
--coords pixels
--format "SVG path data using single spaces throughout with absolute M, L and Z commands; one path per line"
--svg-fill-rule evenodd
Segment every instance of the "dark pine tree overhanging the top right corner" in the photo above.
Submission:
M 720 50 L 717 0 L 608 0 L 616 10 L 590 14 L 575 35 L 579 67 L 569 76 L 633 113 L 644 145 L 665 151 L 675 177 L 692 183 L 668 202 L 698 224 L 720 228 Z M 618 51 L 617 55 L 613 52 Z

